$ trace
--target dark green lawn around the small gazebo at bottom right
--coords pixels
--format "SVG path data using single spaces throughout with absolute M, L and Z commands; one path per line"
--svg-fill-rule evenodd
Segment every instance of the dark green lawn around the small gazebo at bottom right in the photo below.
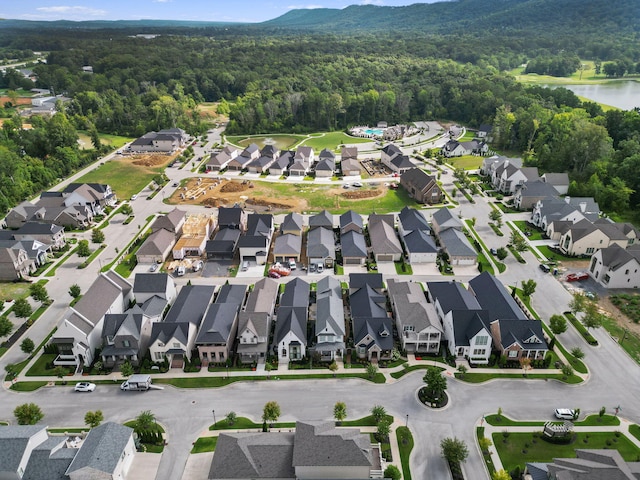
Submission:
M 640 449 L 622 434 L 616 436 L 613 432 L 580 432 L 568 445 L 548 443 L 541 438 L 534 438 L 534 433 L 510 433 L 506 443 L 501 433 L 493 434 L 493 448 L 496 449 L 504 469 L 511 471 L 520 465 L 524 468 L 526 462 L 552 462 L 554 458 L 575 458 L 575 449 L 609 448 L 620 452 L 622 458 L 629 462 L 637 461 Z M 535 443 L 534 443 L 535 441 Z M 523 451 L 526 451 L 524 453 Z

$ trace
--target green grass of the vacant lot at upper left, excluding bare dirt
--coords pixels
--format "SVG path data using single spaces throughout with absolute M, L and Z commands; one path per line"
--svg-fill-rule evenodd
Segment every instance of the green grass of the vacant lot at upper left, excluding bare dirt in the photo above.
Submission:
M 167 157 L 167 163 L 170 160 Z M 80 177 L 77 183 L 108 183 L 118 198 L 129 199 L 162 173 L 165 166 L 140 167 L 124 160 L 111 160 Z

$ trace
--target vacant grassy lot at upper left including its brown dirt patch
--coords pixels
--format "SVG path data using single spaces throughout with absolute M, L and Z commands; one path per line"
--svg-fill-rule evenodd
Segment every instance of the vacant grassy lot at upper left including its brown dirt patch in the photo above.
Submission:
M 132 155 L 111 160 L 80 177 L 78 183 L 108 183 L 120 199 L 128 199 L 161 174 L 174 156 Z

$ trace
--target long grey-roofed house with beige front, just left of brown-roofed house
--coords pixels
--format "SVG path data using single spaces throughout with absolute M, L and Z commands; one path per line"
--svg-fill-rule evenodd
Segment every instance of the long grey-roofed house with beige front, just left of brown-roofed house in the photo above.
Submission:
M 196 347 L 203 366 L 224 363 L 232 358 L 238 331 L 238 313 L 244 304 L 247 287 L 225 284 L 215 303 L 209 306 L 196 336 Z

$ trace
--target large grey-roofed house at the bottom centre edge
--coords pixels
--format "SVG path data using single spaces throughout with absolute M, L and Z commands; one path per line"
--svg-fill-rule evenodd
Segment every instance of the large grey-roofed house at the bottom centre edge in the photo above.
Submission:
M 365 480 L 382 478 L 380 449 L 358 429 L 333 422 L 296 422 L 293 432 L 224 433 L 211 462 L 211 480 Z

